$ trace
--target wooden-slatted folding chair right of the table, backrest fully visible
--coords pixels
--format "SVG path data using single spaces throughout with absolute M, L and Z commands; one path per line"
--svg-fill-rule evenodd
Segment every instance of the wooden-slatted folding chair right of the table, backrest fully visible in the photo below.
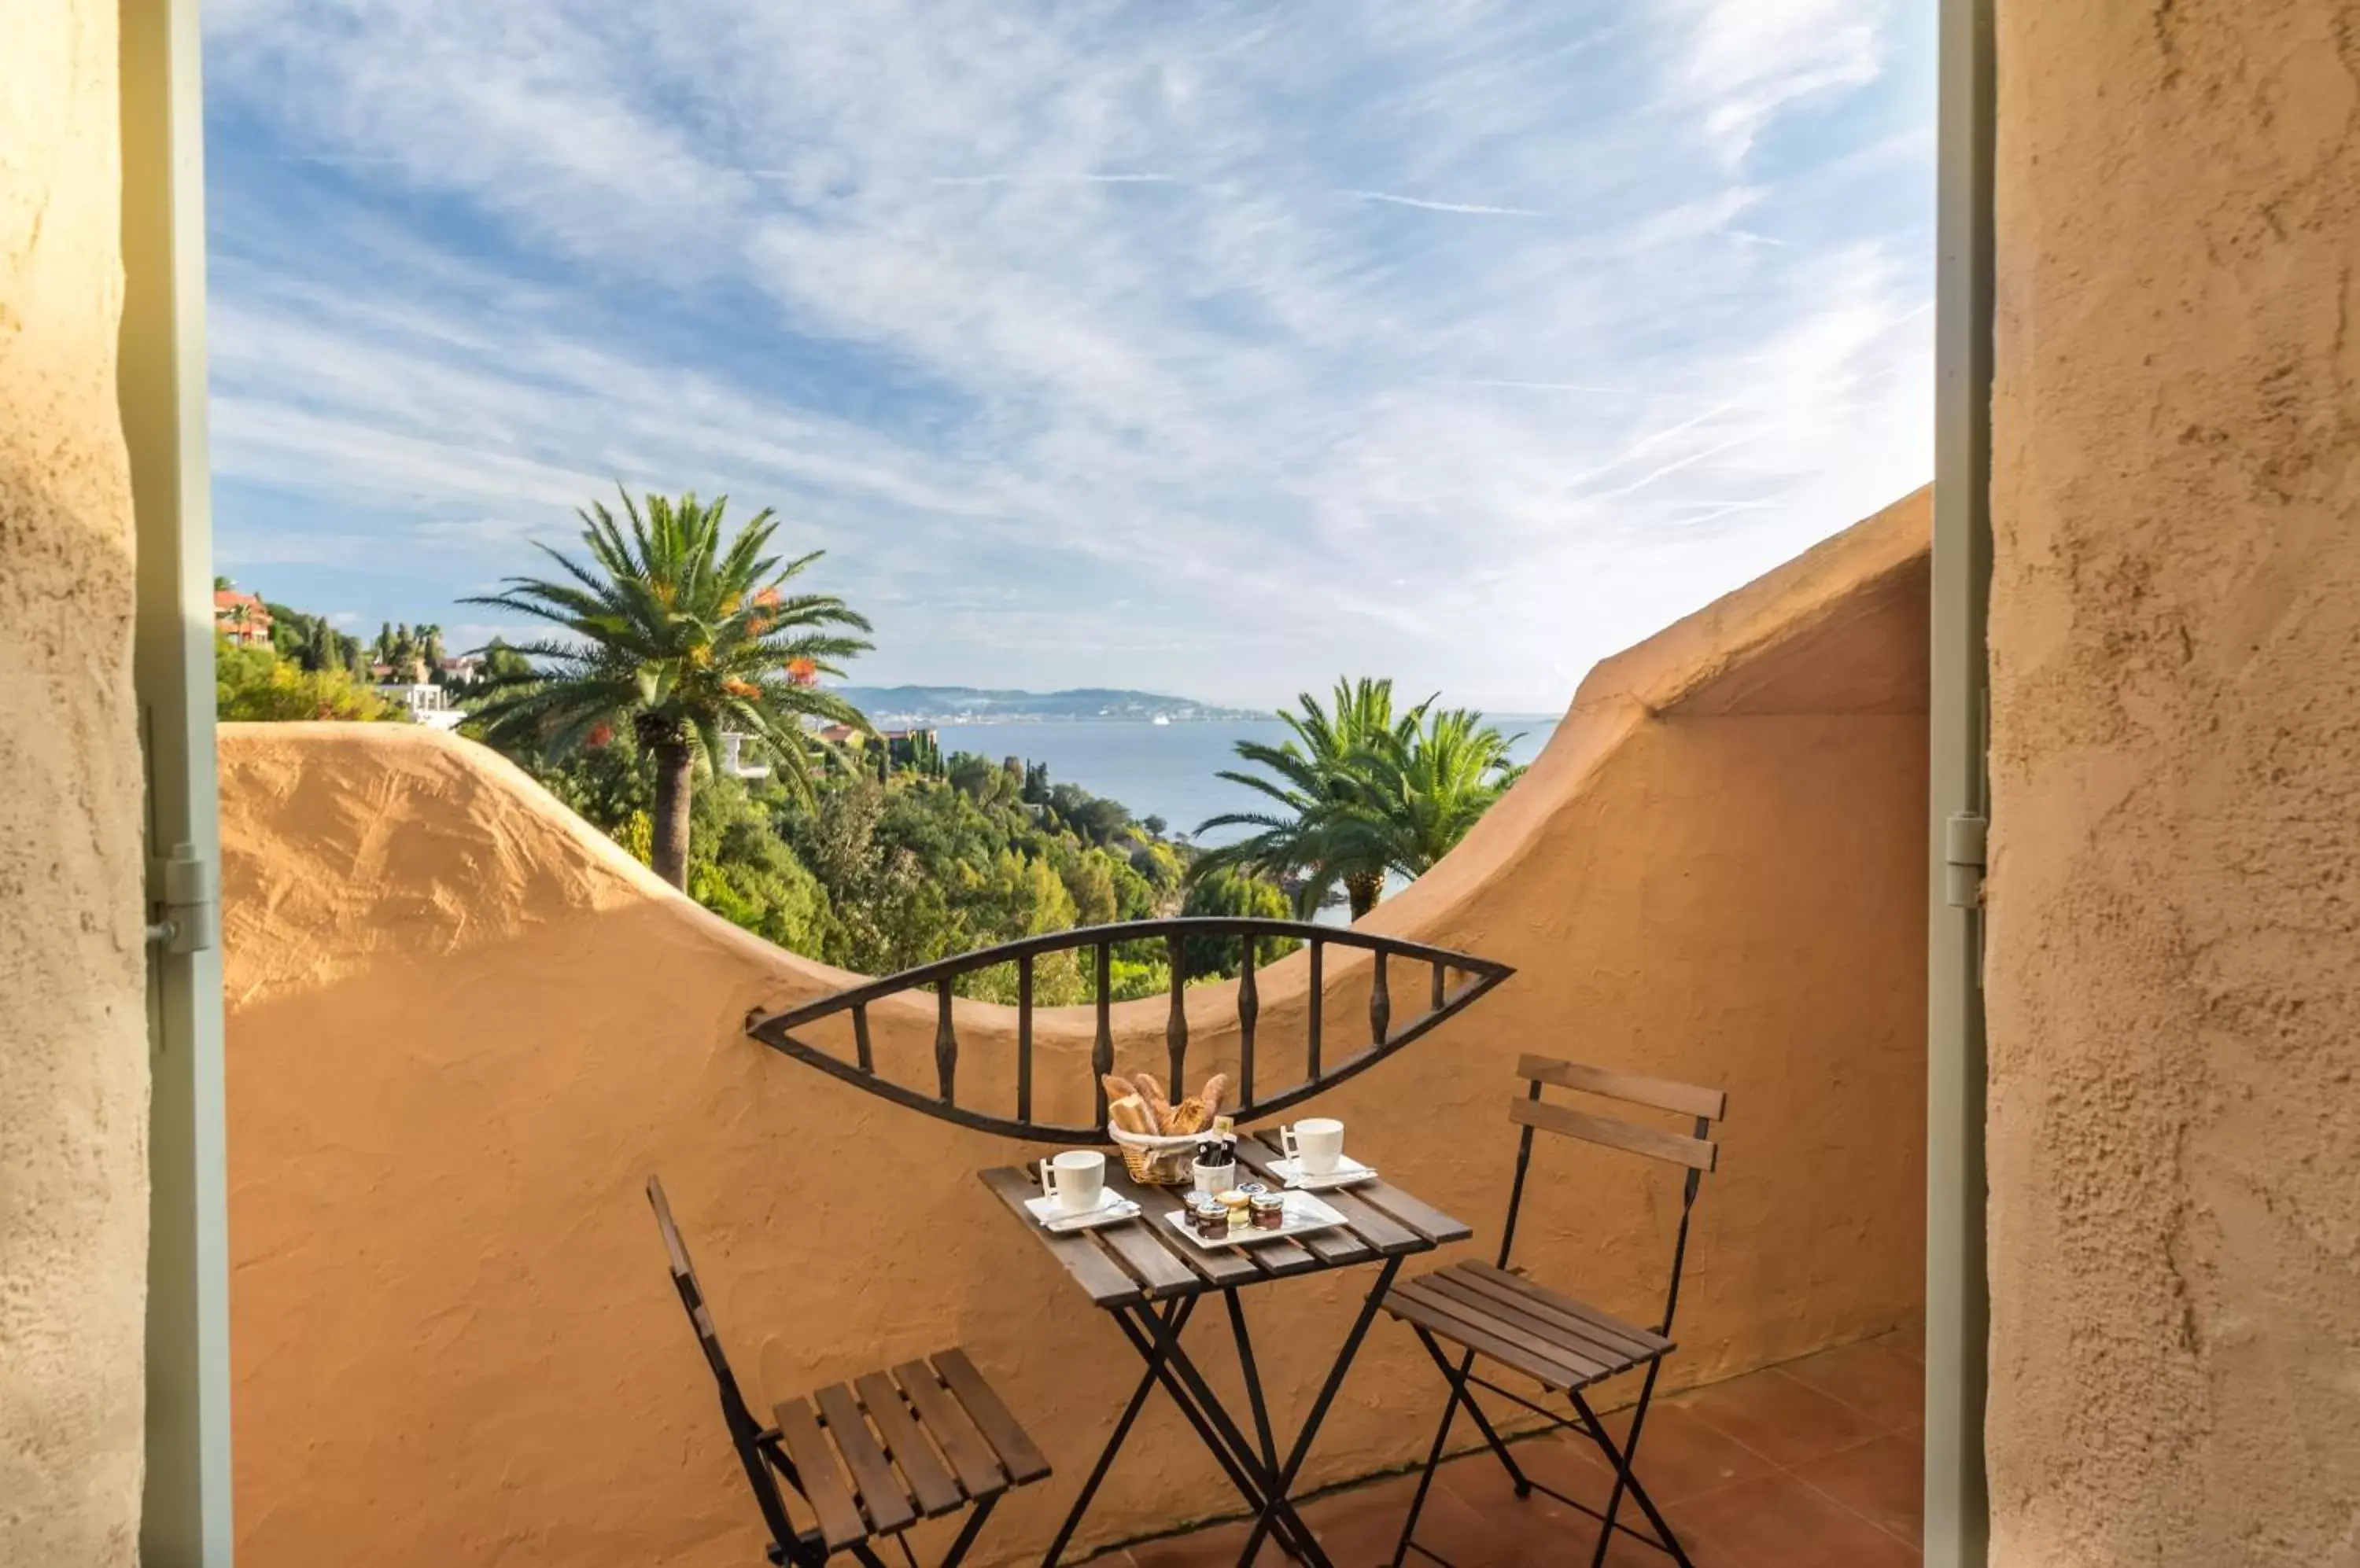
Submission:
M 1515 1144 L 1515 1186 L 1508 1191 L 1508 1221 L 1501 1226 L 1499 1264 L 1449 1264 L 1416 1280 L 1399 1283 L 1385 1294 L 1385 1311 L 1416 1330 L 1425 1344 L 1425 1353 L 1435 1358 L 1442 1377 L 1451 1384 L 1451 1398 L 1442 1410 L 1442 1427 L 1435 1429 L 1435 1445 L 1425 1455 L 1425 1474 L 1418 1476 L 1418 1490 L 1409 1502 L 1409 1518 L 1402 1521 L 1402 1540 L 1392 1549 L 1392 1566 L 1399 1568 L 1409 1551 L 1418 1551 L 1449 1568 L 1447 1559 L 1416 1542 L 1416 1530 L 1418 1511 L 1425 1507 L 1425 1490 L 1435 1481 L 1435 1464 L 1442 1462 L 1451 1422 L 1458 1417 L 1458 1405 L 1466 1403 L 1468 1415 L 1475 1417 L 1475 1427 L 1482 1429 L 1484 1443 L 1508 1467 L 1508 1478 L 1515 1483 L 1517 1497 L 1541 1490 L 1600 1521 L 1591 1568 L 1605 1563 L 1614 1530 L 1669 1554 L 1680 1568 L 1692 1568 L 1687 1551 L 1680 1549 L 1680 1540 L 1671 1533 L 1654 1500 L 1647 1497 L 1647 1488 L 1631 1474 L 1631 1467 L 1638 1457 L 1640 1431 L 1647 1424 L 1647 1401 L 1654 1398 L 1657 1372 L 1664 1370 L 1664 1356 L 1673 1349 L 1666 1335 L 1671 1335 L 1671 1313 L 1680 1304 L 1680 1269 L 1687 1261 L 1687 1219 L 1697 1207 L 1697 1186 L 1704 1172 L 1713 1170 L 1720 1155 L 1706 1134 L 1725 1115 L 1728 1094 L 1666 1078 L 1640 1078 L 1638 1073 L 1614 1073 L 1610 1068 L 1551 1061 L 1546 1056 L 1525 1056 L 1515 1063 L 1515 1075 L 1525 1080 L 1527 1094 L 1508 1101 L 1508 1120 L 1522 1127 L 1522 1132 Z M 1694 1118 L 1694 1129 L 1687 1134 L 1664 1132 L 1640 1122 L 1558 1106 L 1541 1099 L 1543 1085 L 1673 1111 Z M 1671 1247 L 1671 1287 L 1664 1292 L 1664 1320 L 1657 1327 L 1635 1327 L 1510 1271 L 1508 1254 L 1515 1247 L 1515 1219 L 1525 1205 L 1525 1177 L 1532 1170 L 1534 1132 L 1555 1132 L 1586 1144 L 1624 1148 L 1687 1167 L 1680 1186 L 1680 1236 Z M 1456 1365 L 1444 1353 L 1442 1342 L 1458 1346 Z M 1532 1377 L 1541 1384 L 1543 1394 L 1565 1394 L 1572 1401 L 1574 1415 L 1558 1415 L 1513 1389 L 1475 1375 L 1477 1356 Z M 1598 1412 L 1584 1398 L 1584 1389 L 1640 1365 L 1647 1368 L 1647 1379 L 1640 1384 L 1638 1405 L 1631 1412 L 1631 1431 L 1621 1448 L 1617 1448 Z M 1605 1514 L 1529 1478 L 1475 1401 L 1475 1389 L 1487 1389 L 1525 1410 L 1546 1415 L 1551 1429 L 1579 1427 L 1584 1436 L 1598 1443 L 1607 1462 L 1614 1464 L 1614 1490 L 1607 1497 Z M 1614 1516 L 1621 1511 L 1624 1493 L 1647 1514 L 1647 1523 L 1657 1530 L 1654 1537 L 1617 1523 Z

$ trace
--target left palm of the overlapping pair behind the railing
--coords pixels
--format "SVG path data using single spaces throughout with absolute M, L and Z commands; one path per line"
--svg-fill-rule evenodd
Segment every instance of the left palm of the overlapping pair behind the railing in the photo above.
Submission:
M 1296 882 L 1296 910 L 1310 917 L 1340 882 L 1352 920 L 1376 908 L 1385 891 L 1390 844 L 1374 792 L 1374 757 L 1383 747 L 1407 747 L 1425 717 L 1425 703 L 1392 714 L 1392 681 L 1336 681 L 1333 712 L 1312 693 L 1296 698 L 1300 714 L 1279 710 L 1293 736 L 1279 745 L 1239 740 L 1237 755 L 1263 773 L 1222 771 L 1220 778 L 1270 797 L 1279 811 L 1222 811 L 1197 825 L 1253 828 L 1234 844 L 1197 856 L 1189 877 L 1244 870 Z

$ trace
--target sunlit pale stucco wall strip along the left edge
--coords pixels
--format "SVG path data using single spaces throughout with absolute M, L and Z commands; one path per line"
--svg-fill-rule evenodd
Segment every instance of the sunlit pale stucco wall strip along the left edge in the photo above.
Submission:
M 139 1535 L 146 1026 L 116 7 L 0 21 L 0 1563 Z

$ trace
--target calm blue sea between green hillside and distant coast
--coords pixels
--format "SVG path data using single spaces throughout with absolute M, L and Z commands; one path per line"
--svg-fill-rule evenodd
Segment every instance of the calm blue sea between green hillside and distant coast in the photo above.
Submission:
M 1532 762 L 1558 729 L 1555 717 L 1489 719 L 1517 736 L 1513 755 Z M 1279 745 L 1289 729 L 1277 719 L 1192 719 L 1173 724 L 1130 719 L 1076 719 L 1043 724 L 939 724 L 942 755 L 977 752 L 984 757 L 1022 757 L 1048 764 L 1050 783 L 1074 783 L 1090 795 L 1119 799 L 1133 818 L 1161 816 L 1166 832 L 1185 832 L 1201 844 L 1225 844 L 1246 828 L 1215 828 L 1197 835 L 1197 825 L 1222 811 L 1256 811 L 1267 797 L 1220 778 L 1222 769 L 1244 766 L 1239 740 Z

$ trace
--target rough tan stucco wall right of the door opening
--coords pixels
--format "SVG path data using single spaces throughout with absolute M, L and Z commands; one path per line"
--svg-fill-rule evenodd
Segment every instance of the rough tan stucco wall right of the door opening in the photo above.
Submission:
M 1999 7 L 1999 1563 L 2360 1563 L 2360 14 Z

